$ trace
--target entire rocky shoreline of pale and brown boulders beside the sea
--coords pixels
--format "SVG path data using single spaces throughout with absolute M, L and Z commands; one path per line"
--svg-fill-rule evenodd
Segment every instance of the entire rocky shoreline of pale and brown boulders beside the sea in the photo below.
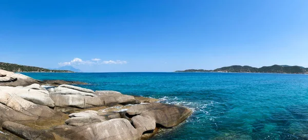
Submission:
M 158 99 L 44 84 L 0 70 L 0 139 L 148 139 L 192 114 Z

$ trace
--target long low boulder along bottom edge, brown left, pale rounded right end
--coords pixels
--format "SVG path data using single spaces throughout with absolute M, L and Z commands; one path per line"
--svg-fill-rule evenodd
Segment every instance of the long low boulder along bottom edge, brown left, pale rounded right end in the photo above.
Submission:
M 71 127 L 59 126 L 42 131 L 13 122 L 3 124 L 5 130 L 26 139 L 127 139 L 137 140 L 142 136 L 127 119 L 115 118 L 102 123 Z

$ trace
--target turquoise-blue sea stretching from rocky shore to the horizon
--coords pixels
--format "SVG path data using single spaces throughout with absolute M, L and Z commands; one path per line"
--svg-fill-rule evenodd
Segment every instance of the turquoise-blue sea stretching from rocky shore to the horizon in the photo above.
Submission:
M 263 73 L 23 73 L 92 90 L 162 99 L 194 111 L 152 139 L 307 139 L 308 75 Z

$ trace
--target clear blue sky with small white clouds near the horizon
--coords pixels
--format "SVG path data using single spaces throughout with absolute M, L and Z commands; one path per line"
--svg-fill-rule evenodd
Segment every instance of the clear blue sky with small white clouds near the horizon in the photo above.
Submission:
M 308 67 L 308 1 L 1 1 L 0 62 L 86 72 Z

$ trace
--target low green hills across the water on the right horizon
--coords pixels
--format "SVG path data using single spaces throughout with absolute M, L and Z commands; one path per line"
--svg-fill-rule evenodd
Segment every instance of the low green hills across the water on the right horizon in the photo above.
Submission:
M 255 68 L 251 66 L 229 66 L 222 67 L 215 70 L 195 70 L 189 69 L 184 71 L 176 72 L 255 72 L 255 73 L 295 73 L 295 74 L 308 74 L 308 68 L 300 66 L 288 66 L 288 65 L 273 65 L 273 66 L 264 66 L 261 68 Z

